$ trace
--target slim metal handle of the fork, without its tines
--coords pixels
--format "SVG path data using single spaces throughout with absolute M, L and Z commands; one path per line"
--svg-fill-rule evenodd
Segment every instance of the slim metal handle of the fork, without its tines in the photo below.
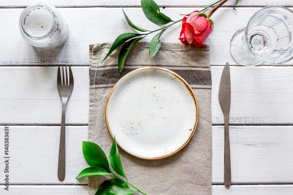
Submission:
M 62 118 L 58 159 L 58 179 L 60 181 L 63 181 L 65 178 L 65 110 L 66 104 L 62 104 Z

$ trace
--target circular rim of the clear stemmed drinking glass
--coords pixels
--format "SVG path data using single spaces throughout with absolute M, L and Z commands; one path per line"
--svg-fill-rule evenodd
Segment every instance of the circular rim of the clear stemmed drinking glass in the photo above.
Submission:
M 248 20 L 248 23 L 247 23 L 247 25 L 246 25 L 245 32 L 244 32 L 244 36 L 245 36 L 245 44 L 247 45 L 248 50 L 250 51 L 250 54 L 253 53 L 253 51 L 252 51 L 251 47 L 250 47 L 249 44 L 248 44 L 248 26 L 250 25 L 251 21 L 253 20 L 253 18 L 254 18 L 258 13 L 260 13 L 261 11 L 263 11 L 263 10 L 265 10 L 265 9 L 269 9 L 269 8 L 282 8 L 282 9 L 285 9 L 285 10 L 287 10 L 287 11 L 289 11 L 289 12 L 291 12 L 291 13 L 293 14 L 293 11 L 292 11 L 291 9 L 289 9 L 289 8 L 287 8 L 287 7 L 285 7 L 285 6 L 278 6 L 278 5 L 266 6 L 266 7 L 264 7 L 264 8 L 261 8 L 260 10 L 256 11 L 256 12 L 251 16 L 251 18 Z M 258 59 L 258 58 L 257 58 L 257 59 Z M 293 59 L 293 55 L 292 55 L 292 57 L 291 57 L 290 59 L 288 59 L 288 60 L 286 60 L 286 61 L 282 61 L 282 62 L 280 62 L 280 63 L 270 63 L 270 64 L 272 64 L 272 65 L 282 64 L 282 63 L 286 63 L 286 62 L 288 62 L 288 61 L 290 61 L 290 60 L 292 60 L 292 59 Z M 259 60 L 259 59 L 258 59 L 258 60 Z M 264 62 L 264 61 L 262 61 L 262 62 Z M 264 63 L 269 63 L 269 62 L 264 62 Z

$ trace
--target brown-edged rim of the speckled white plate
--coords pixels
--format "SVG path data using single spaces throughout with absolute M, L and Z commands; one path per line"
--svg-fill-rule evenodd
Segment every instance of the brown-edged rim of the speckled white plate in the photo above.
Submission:
M 192 133 L 190 134 L 189 138 L 186 140 L 186 142 L 185 142 L 182 146 L 180 146 L 176 151 L 174 151 L 174 152 L 172 152 L 172 153 L 170 153 L 170 154 L 167 154 L 167 155 L 164 155 L 164 156 L 160 156 L 160 157 L 152 157 L 152 158 L 149 158 L 149 157 L 142 157 L 142 156 L 137 156 L 137 155 L 134 155 L 134 154 L 130 153 L 129 151 L 126 151 L 123 147 L 120 146 L 120 144 L 118 144 L 118 143 L 116 142 L 116 144 L 117 144 L 118 146 L 120 146 L 120 148 L 121 148 L 122 150 L 124 150 L 125 152 L 129 153 L 129 154 L 132 155 L 132 156 L 135 156 L 135 157 L 137 157 L 137 158 L 141 158 L 141 159 L 146 159 L 146 160 L 156 160 L 156 159 L 162 159 L 162 158 L 166 158 L 166 157 L 168 157 L 168 156 L 172 156 L 173 154 L 175 154 L 175 153 L 177 153 L 178 151 L 180 151 L 184 146 L 186 146 L 186 144 L 188 144 L 188 142 L 190 141 L 190 139 L 193 137 L 193 134 L 194 134 L 194 132 L 195 132 L 195 130 L 196 130 L 196 127 L 197 127 L 197 122 L 198 122 L 198 103 L 197 103 L 197 99 L 196 99 L 196 96 L 195 96 L 195 94 L 194 94 L 192 88 L 190 87 L 190 85 L 189 85 L 189 84 L 188 84 L 188 83 L 187 83 L 187 82 L 186 82 L 186 81 L 185 81 L 180 75 L 178 75 L 177 73 L 174 73 L 173 71 L 168 70 L 168 69 L 166 69 L 166 68 L 155 67 L 155 66 L 142 67 L 142 68 L 137 68 L 137 69 L 135 69 L 135 70 L 130 71 L 129 73 L 127 73 L 126 75 L 124 75 L 123 77 L 121 77 L 121 78 L 115 83 L 115 85 L 113 86 L 113 88 L 111 89 L 111 91 L 110 91 L 110 93 L 109 93 L 109 95 L 108 95 L 107 101 L 106 101 L 106 106 L 105 106 L 105 118 L 106 118 L 106 124 L 107 124 L 107 127 L 108 127 L 108 131 L 109 131 L 111 137 L 114 139 L 114 135 L 113 135 L 113 133 L 112 133 L 112 131 L 111 131 L 111 129 L 110 129 L 109 122 L 108 122 L 108 111 L 107 111 L 108 109 L 107 109 L 107 108 L 108 108 L 109 99 L 110 99 L 110 97 L 111 97 L 113 91 L 116 89 L 117 85 L 118 85 L 122 80 L 124 80 L 126 77 L 128 77 L 128 75 L 130 75 L 130 74 L 132 74 L 132 73 L 134 73 L 134 72 L 141 71 L 141 70 L 149 70 L 149 69 L 164 70 L 164 71 L 166 71 L 166 72 L 168 72 L 168 73 L 171 73 L 172 75 L 178 77 L 178 78 L 179 78 L 179 79 L 185 84 L 185 87 L 191 92 L 191 94 L 192 94 L 192 96 L 193 96 L 193 98 L 194 98 L 194 101 L 195 101 L 195 107 L 196 107 L 196 120 L 195 120 L 195 125 L 194 125 L 194 127 L 193 127 L 193 129 L 192 129 Z

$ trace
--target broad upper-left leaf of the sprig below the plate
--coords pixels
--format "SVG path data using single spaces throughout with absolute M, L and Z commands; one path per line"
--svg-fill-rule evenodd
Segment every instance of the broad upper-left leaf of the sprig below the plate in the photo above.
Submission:
M 88 165 L 91 167 L 102 167 L 109 173 L 111 172 L 106 154 L 100 146 L 89 141 L 83 141 L 82 152 Z

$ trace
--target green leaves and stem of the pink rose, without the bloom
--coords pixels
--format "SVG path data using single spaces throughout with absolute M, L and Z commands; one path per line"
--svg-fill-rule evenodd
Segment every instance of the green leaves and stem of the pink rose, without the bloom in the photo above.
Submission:
M 222 1 L 222 2 L 221 2 Z M 214 23 L 211 19 L 209 19 L 209 17 L 214 13 L 215 10 L 217 10 L 217 6 L 221 6 L 222 4 L 224 4 L 227 0 L 218 0 L 216 2 L 214 2 L 213 4 L 207 6 L 206 8 L 203 8 L 202 10 L 200 10 L 199 14 L 197 15 L 204 15 L 208 21 L 211 23 L 212 25 L 212 29 L 214 29 Z M 220 3 L 219 3 L 220 2 Z M 204 10 L 206 10 L 207 8 L 213 6 L 214 4 L 219 3 L 215 8 L 213 8 L 211 11 L 209 11 L 207 14 L 205 14 L 205 12 L 203 12 Z M 236 0 L 236 4 L 238 3 L 238 0 Z M 235 5 L 236 5 L 235 4 Z M 160 41 L 160 37 L 163 34 L 163 32 L 170 26 L 181 22 L 182 19 L 177 20 L 177 21 L 173 21 L 171 18 L 169 18 L 168 16 L 166 16 L 165 14 L 161 13 L 159 6 L 156 4 L 156 2 L 154 0 L 141 0 L 141 5 L 142 5 L 142 10 L 144 12 L 144 15 L 147 17 L 147 19 L 149 21 L 151 21 L 154 24 L 157 25 L 165 25 L 168 23 L 171 23 L 167 26 L 161 27 L 157 30 L 145 30 L 137 25 L 135 25 L 134 23 L 131 22 L 131 20 L 128 18 L 128 16 L 126 15 L 125 11 L 122 8 L 122 12 L 123 15 L 125 17 L 125 20 L 127 21 L 128 25 L 130 27 L 132 27 L 133 29 L 140 31 L 140 32 L 145 32 L 144 34 L 139 34 L 139 33 L 123 33 L 120 34 L 116 40 L 114 41 L 113 45 L 111 46 L 108 54 L 105 56 L 105 58 L 103 59 L 103 61 L 115 50 L 117 49 L 119 46 L 122 46 L 120 53 L 119 53 L 119 57 L 118 57 L 118 70 L 121 73 L 124 67 L 124 63 L 125 63 L 125 59 L 127 57 L 127 55 L 129 54 L 130 50 L 132 49 L 132 47 L 137 44 L 137 42 L 139 42 L 141 39 L 143 39 L 144 37 L 146 37 L 147 35 L 159 31 L 161 30 L 161 32 L 159 34 L 156 34 L 153 39 L 150 42 L 149 45 L 149 59 L 151 59 L 152 57 L 154 57 L 156 54 L 158 54 L 158 52 L 161 50 L 161 41 Z M 234 5 L 234 6 L 235 6 Z M 234 8 L 233 6 L 233 8 Z M 235 8 L 234 8 L 235 9 Z M 180 14 L 181 15 L 181 14 Z M 190 14 L 186 14 L 186 15 L 190 15 Z M 147 33 L 148 32 L 148 33 Z M 103 63 L 103 61 L 101 63 Z

